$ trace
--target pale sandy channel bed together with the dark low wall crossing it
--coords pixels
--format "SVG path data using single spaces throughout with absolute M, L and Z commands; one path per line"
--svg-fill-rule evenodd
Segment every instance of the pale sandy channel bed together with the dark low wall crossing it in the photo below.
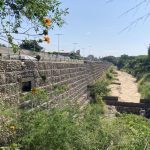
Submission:
M 120 113 L 147 115 L 150 105 L 141 103 L 136 78 L 123 71 L 114 71 L 114 80 L 109 86 L 110 96 L 103 97 L 107 107 Z

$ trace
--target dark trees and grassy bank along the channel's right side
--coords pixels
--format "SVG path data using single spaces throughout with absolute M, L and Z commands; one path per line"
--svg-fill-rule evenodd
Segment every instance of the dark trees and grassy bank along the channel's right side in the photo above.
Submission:
M 103 60 L 112 62 L 118 69 L 132 74 L 139 81 L 139 92 L 142 98 L 150 99 L 150 47 L 148 55 L 121 57 L 105 57 Z

